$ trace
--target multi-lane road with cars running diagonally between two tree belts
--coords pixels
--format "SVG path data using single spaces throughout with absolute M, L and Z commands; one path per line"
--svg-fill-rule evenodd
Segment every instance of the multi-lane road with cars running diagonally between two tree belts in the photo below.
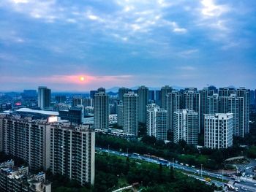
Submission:
M 230 177 L 227 177 L 222 174 L 214 173 L 214 172 L 209 172 L 208 170 L 204 170 L 203 167 L 197 168 L 195 166 L 189 166 L 187 164 L 178 164 L 177 161 L 167 161 L 163 160 L 161 158 L 151 158 L 149 155 L 141 155 L 138 153 L 123 153 L 119 152 L 116 150 L 108 150 L 108 149 L 102 149 L 100 147 L 96 147 L 96 150 L 102 151 L 105 153 L 110 153 L 112 155 L 118 155 L 118 156 L 129 156 L 129 158 L 135 158 L 140 161 L 146 161 L 148 163 L 153 163 L 153 164 L 162 164 L 165 166 L 169 166 L 171 169 L 178 169 L 181 170 L 181 172 L 184 172 L 187 174 L 189 177 L 195 177 L 197 180 L 202 180 L 204 181 L 205 178 L 211 177 L 214 179 L 211 179 L 211 183 L 214 183 L 217 186 L 222 186 L 225 187 L 227 185 L 224 181 L 234 181 Z M 238 191 L 248 191 L 248 192 L 255 192 L 256 191 L 256 185 L 252 181 L 243 181 L 239 180 L 239 183 L 233 184 L 235 188 L 238 188 Z M 208 182 L 206 182 L 208 183 Z

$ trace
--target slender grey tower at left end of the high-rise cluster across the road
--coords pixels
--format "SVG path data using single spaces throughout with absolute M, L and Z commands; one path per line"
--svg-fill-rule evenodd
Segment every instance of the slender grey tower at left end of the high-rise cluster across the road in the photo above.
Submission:
M 94 128 L 108 128 L 109 104 L 108 94 L 98 92 L 94 95 Z

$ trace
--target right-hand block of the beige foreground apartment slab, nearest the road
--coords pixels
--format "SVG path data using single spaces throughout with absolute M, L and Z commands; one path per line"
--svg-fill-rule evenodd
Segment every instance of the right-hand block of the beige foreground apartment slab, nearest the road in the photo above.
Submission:
M 50 171 L 80 185 L 94 184 L 95 131 L 87 125 L 50 127 Z

